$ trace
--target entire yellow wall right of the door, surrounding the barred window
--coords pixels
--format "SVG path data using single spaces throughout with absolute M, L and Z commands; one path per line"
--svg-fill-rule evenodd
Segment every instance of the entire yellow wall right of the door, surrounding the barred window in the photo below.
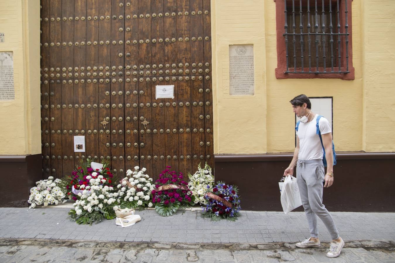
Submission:
M 395 1 L 352 2 L 355 80 L 276 79 L 275 4 L 212 1 L 214 153 L 293 151 L 289 101 L 301 93 L 333 96 L 337 151 L 394 151 Z M 245 43 L 254 44 L 256 95 L 229 96 L 228 45 Z

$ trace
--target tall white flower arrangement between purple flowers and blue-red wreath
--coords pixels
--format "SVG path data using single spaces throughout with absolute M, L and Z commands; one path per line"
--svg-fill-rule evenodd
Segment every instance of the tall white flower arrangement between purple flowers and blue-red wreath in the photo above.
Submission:
M 211 192 L 214 185 L 214 176 L 211 173 L 211 167 L 207 162 L 205 163 L 204 168 L 201 168 L 199 164 L 198 171 L 193 175 L 188 173 L 188 178 L 188 187 L 192 191 L 193 196 L 195 196 L 195 203 L 205 203 L 204 194 L 206 192 Z

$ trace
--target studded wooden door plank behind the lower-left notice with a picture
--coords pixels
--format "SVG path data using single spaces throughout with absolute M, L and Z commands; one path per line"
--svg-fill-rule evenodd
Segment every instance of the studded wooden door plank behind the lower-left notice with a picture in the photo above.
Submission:
M 86 62 L 86 20 L 82 17 L 87 16 L 87 3 L 85 1 L 75 1 L 74 4 L 74 136 L 84 136 L 86 131 L 85 114 L 85 80 L 81 74 L 85 74 Z M 84 69 L 84 71 L 83 71 Z M 85 152 L 75 152 L 75 164 L 81 162 L 81 157 L 86 156 Z

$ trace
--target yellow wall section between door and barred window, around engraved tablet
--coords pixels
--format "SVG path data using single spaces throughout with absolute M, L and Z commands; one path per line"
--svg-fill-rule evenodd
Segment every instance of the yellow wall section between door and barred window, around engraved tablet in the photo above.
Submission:
M 214 153 L 267 151 L 264 12 L 263 1 L 211 1 Z M 229 95 L 229 45 L 232 44 L 254 45 L 253 96 Z

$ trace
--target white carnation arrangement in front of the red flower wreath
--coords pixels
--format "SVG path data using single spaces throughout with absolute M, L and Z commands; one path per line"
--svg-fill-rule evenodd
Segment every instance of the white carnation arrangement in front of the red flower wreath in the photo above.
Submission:
M 117 188 L 101 185 L 103 175 L 92 173 L 87 176 L 90 187 L 86 187 L 83 192 L 79 192 L 79 200 L 76 200 L 74 209 L 69 212 L 70 219 L 77 224 L 96 224 L 105 219 L 114 219 L 115 211 L 113 207 L 120 203 L 120 193 Z M 89 190 L 88 190 L 89 189 Z

